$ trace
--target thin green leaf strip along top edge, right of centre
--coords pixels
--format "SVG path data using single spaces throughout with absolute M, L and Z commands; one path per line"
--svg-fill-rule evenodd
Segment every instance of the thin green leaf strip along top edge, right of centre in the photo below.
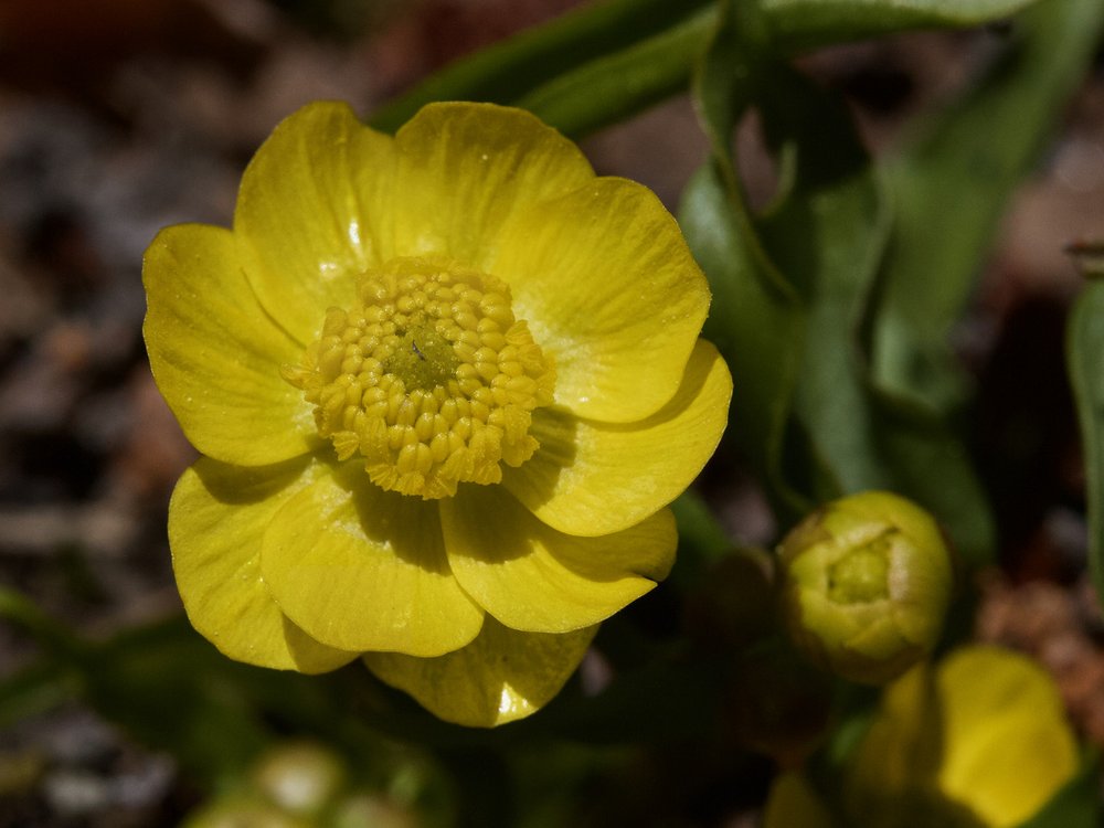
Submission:
M 793 54 L 911 29 L 1000 20 L 1034 0 L 762 0 L 771 34 Z

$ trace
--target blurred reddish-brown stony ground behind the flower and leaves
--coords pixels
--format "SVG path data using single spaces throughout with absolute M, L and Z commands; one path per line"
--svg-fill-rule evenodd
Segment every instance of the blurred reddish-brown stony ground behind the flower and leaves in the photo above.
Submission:
M 195 455 L 146 362 L 146 245 L 167 224 L 229 224 L 246 161 L 301 104 L 340 98 L 367 116 L 448 62 L 577 4 L 0 0 L 0 583 L 94 637 L 180 613 L 166 507 Z M 1001 36 L 913 34 L 802 65 L 845 94 L 868 146 L 889 152 Z M 754 123 L 736 141 L 762 203 L 773 166 Z M 599 173 L 643 181 L 671 210 L 708 153 L 686 96 L 582 146 Z M 1062 369 L 1081 278 L 1063 251 L 1100 237 L 1098 55 L 1009 205 L 956 347 L 979 380 L 973 449 L 1001 534 L 977 635 L 1037 656 L 1081 732 L 1104 746 L 1104 622 L 1083 575 L 1084 479 Z M 775 537 L 752 484 L 730 470 L 707 485 L 734 539 Z M 31 664 L 35 647 L 0 622 L 0 678 Z M 177 825 L 201 800 L 171 754 L 55 701 L 18 716 L 0 704 L 0 828 Z M 637 782 L 655 772 L 637 769 Z M 710 784 L 735 771 L 718 773 Z M 684 816 L 677 825 L 753 824 L 742 799 L 754 792 L 667 786 L 639 807 L 650 797 L 658 813 Z M 604 795 L 616 800 L 616 787 Z

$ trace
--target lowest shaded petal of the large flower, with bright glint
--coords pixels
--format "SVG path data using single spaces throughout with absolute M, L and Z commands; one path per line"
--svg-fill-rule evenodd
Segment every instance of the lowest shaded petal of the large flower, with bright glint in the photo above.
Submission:
M 550 702 L 582 661 L 597 627 L 553 635 L 518 633 L 488 617 L 464 649 L 438 658 L 368 652 L 382 681 L 434 715 L 471 728 L 523 719 Z

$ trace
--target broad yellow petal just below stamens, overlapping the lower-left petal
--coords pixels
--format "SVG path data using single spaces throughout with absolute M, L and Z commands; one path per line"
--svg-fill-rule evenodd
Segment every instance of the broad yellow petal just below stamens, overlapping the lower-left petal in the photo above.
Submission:
M 448 567 L 436 503 L 383 491 L 357 464 L 280 508 L 261 571 L 284 613 L 339 649 L 439 656 L 482 625 Z

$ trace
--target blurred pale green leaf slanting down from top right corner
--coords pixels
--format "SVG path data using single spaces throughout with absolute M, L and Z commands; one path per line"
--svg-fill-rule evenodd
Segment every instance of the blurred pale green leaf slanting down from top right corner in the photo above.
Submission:
M 985 78 L 893 163 L 896 216 L 872 346 L 875 381 L 888 392 L 942 412 L 962 402 L 948 335 L 1102 24 L 1100 0 L 1039 3 L 1016 21 Z

